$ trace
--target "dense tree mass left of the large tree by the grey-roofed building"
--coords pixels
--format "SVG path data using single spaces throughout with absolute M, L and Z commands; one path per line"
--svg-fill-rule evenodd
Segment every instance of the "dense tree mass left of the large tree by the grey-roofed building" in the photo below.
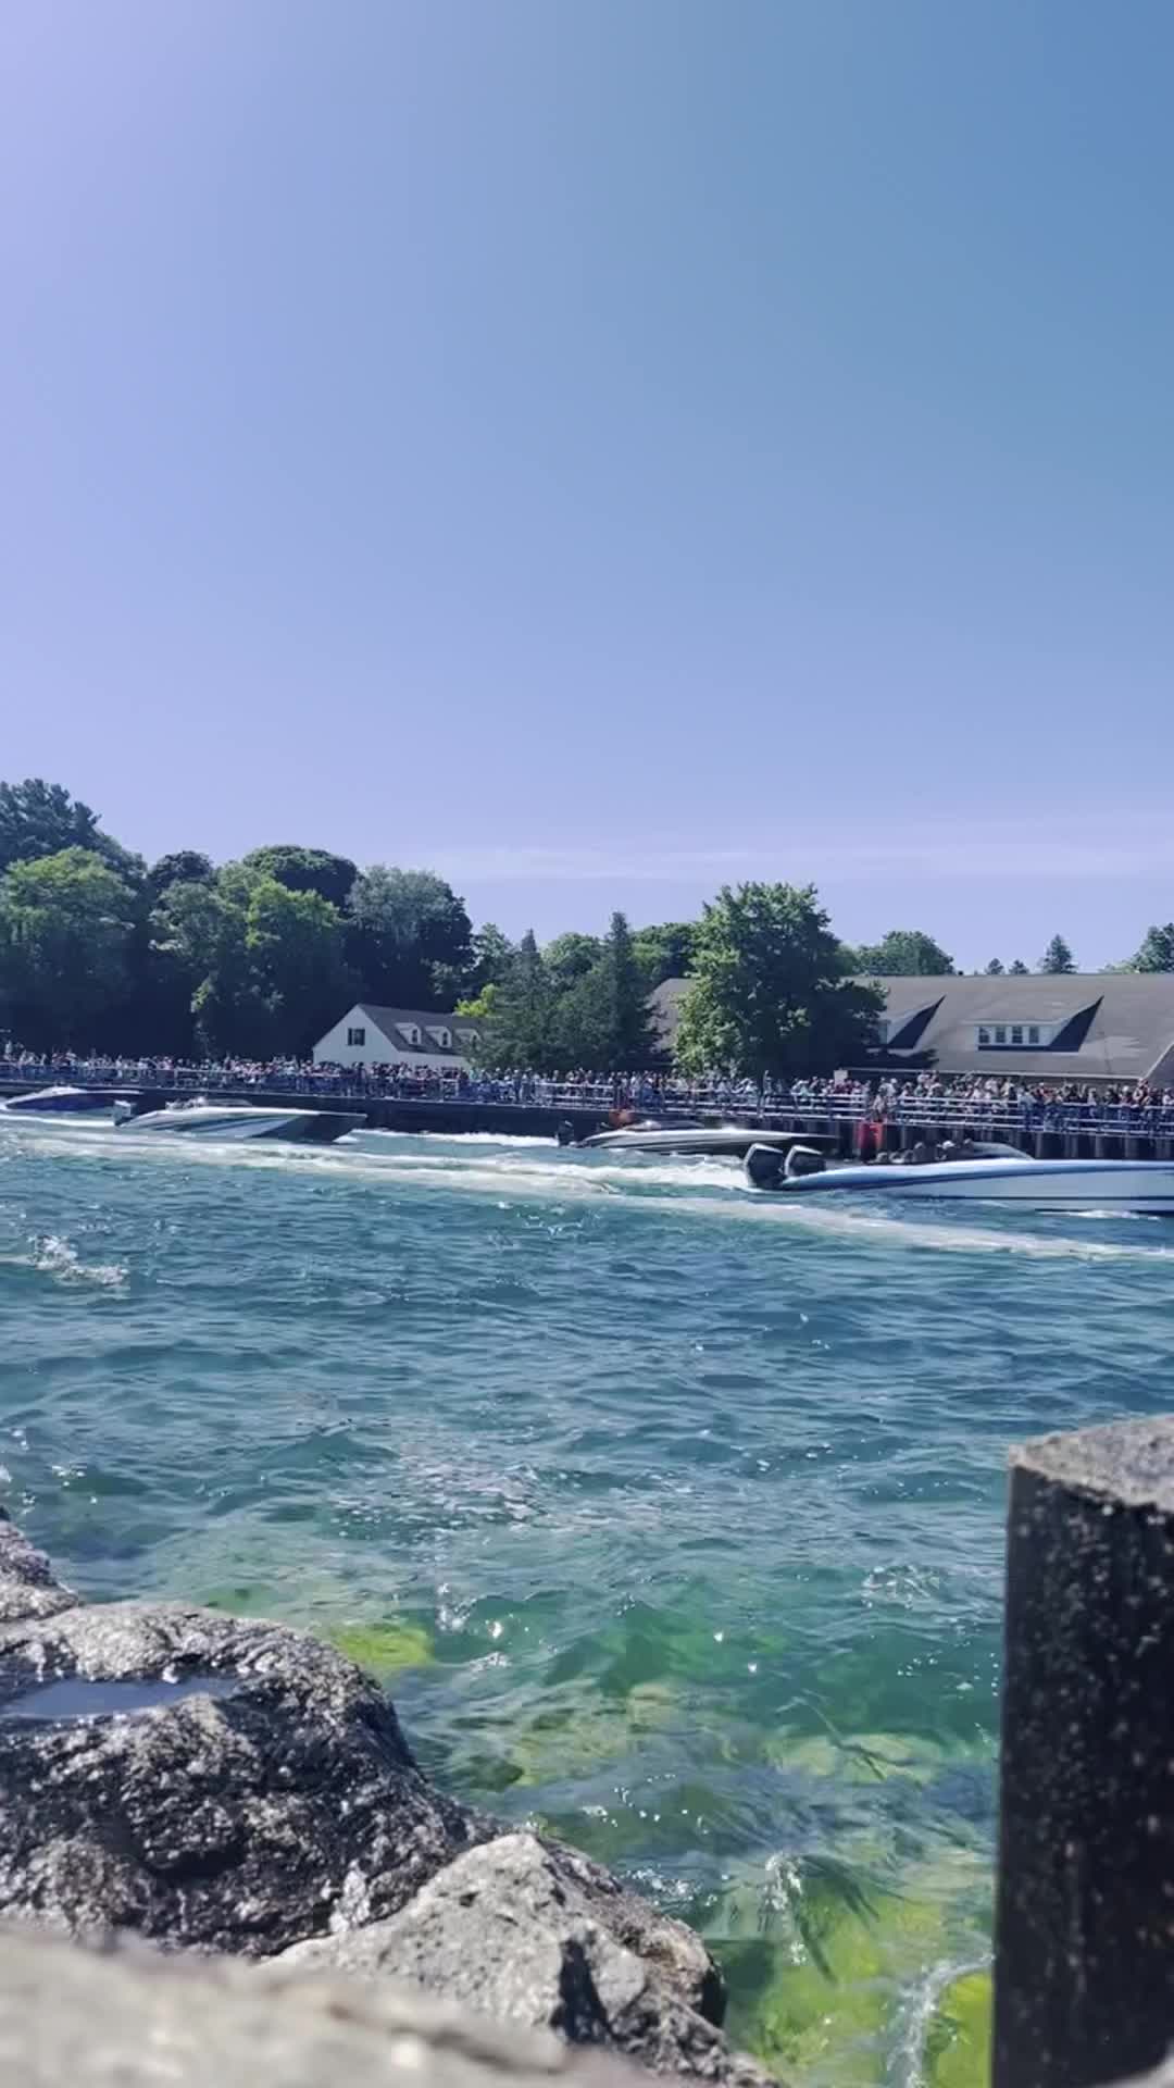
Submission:
M 0 783 L 0 1036 L 31 1048 L 307 1052 L 353 1000 L 485 1006 L 520 1063 L 535 1015 L 562 1063 L 645 1063 L 648 992 L 691 963 L 687 925 L 560 935 L 539 952 L 432 871 L 274 844 L 146 864 L 58 783 Z

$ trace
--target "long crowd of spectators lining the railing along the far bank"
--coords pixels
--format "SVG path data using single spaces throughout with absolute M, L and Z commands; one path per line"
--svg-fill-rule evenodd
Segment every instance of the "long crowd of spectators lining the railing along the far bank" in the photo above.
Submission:
M 1174 1088 L 1147 1082 L 1055 1082 L 1015 1073 L 833 1073 L 819 1079 L 733 1079 L 725 1073 L 468 1071 L 422 1065 L 318 1065 L 309 1059 L 171 1059 L 104 1052 L 31 1052 L 6 1044 L 0 1077 L 44 1084 L 184 1088 L 224 1092 L 267 1088 L 322 1094 L 449 1102 L 514 1102 L 539 1109 L 600 1109 L 645 1117 L 689 1111 L 733 1115 L 854 1117 L 861 1121 L 1051 1128 L 1103 1117 L 1118 1123 L 1174 1123 Z

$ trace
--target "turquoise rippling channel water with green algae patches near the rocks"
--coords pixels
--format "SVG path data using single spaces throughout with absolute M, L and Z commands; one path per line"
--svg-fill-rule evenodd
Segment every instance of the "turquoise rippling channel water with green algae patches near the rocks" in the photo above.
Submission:
M 723 1161 L 0 1128 L 0 1489 L 94 1595 L 297 1620 L 453 1789 L 694 1919 L 804 2082 L 963 2082 L 1011 1441 L 1161 1405 L 1161 1221 Z M 967 2027 L 969 2025 L 969 2027 Z

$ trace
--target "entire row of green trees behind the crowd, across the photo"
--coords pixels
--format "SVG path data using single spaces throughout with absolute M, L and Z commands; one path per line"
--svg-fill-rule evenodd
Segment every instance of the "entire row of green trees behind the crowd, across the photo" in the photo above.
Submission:
M 986 971 L 1026 973 L 1022 958 Z M 1076 971 L 1053 935 L 1038 971 Z M 1174 971 L 1174 923 L 1118 971 Z M 921 929 L 840 942 L 811 885 L 723 887 L 700 921 L 606 935 L 474 929 L 432 871 L 272 844 L 213 864 L 146 864 L 56 783 L 0 783 L 0 1038 L 31 1048 L 188 1057 L 305 1054 L 355 1000 L 460 1006 L 485 1063 L 560 1071 L 650 1065 L 648 996 L 689 979 L 677 1063 L 752 1075 L 859 1065 L 882 996 L 863 979 L 955 973 Z

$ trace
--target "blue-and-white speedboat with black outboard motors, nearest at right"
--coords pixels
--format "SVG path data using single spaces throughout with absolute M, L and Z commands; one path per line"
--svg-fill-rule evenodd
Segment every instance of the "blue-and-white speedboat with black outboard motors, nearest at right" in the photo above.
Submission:
M 819 1155 L 802 1173 L 788 1173 L 785 1159 L 756 1144 L 746 1155 L 752 1188 L 785 1196 L 934 1196 L 948 1203 L 1017 1203 L 1032 1211 L 1141 1211 L 1174 1217 L 1174 1161 L 1034 1161 L 965 1159 L 894 1167 L 821 1167 Z

